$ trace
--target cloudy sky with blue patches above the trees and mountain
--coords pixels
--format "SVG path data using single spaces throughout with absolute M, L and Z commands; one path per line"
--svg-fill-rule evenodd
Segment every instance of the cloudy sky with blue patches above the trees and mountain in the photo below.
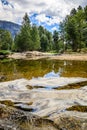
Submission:
M 79 5 L 86 6 L 87 0 L 0 0 L 0 20 L 21 24 L 27 12 L 31 24 L 54 31 L 70 10 Z

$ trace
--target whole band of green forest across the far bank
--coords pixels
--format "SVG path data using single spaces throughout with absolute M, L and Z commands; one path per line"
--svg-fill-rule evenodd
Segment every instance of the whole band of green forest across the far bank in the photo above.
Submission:
M 87 6 L 73 8 L 54 32 L 43 26 L 31 25 L 29 16 L 25 13 L 21 29 L 15 38 L 12 38 L 9 31 L 0 29 L 1 50 L 87 52 Z

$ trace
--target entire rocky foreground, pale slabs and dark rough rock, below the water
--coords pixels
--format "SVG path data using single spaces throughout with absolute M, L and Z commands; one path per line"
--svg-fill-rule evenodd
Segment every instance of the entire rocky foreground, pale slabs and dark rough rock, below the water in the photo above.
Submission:
M 86 130 L 86 81 L 39 77 L 0 83 L 0 129 Z M 64 89 L 76 84 L 79 87 Z

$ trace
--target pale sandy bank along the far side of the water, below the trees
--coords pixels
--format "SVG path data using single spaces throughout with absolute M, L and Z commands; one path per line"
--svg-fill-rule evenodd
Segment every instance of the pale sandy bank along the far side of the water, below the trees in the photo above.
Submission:
M 8 55 L 8 58 L 13 59 L 41 59 L 49 58 L 55 60 L 77 60 L 77 61 L 87 61 L 87 54 L 53 54 L 53 53 L 42 53 L 38 51 L 29 51 L 23 53 L 13 53 Z

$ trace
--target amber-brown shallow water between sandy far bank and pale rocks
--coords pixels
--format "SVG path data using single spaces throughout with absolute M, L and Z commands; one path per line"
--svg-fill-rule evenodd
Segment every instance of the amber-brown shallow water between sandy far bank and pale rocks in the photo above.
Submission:
M 87 61 L 0 60 L 0 82 L 58 76 L 87 77 Z

